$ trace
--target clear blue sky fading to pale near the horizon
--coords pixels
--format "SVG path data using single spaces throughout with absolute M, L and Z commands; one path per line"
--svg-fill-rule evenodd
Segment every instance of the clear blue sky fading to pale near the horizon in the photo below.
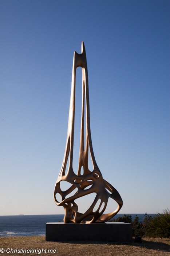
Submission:
M 0 215 L 64 214 L 53 192 L 82 40 L 94 154 L 120 213 L 170 208 L 169 32 L 169 0 L 0 0 Z M 81 76 L 78 68 L 75 173 Z

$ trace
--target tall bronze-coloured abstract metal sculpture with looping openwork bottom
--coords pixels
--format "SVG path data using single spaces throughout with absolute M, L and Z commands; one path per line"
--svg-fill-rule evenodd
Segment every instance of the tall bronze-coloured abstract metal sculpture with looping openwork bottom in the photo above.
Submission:
M 81 133 L 80 133 L 80 154 L 79 154 L 79 166 L 78 174 L 76 175 L 73 171 L 73 144 L 74 144 L 74 120 L 75 120 L 75 79 L 76 79 L 76 68 L 82 67 L 82 118 L 81 118 Z M 86 96 L 86 99 L 85 99 Z M 84 150 L 84 103 L 86 105 L 86 148 Z M 94 170 L 91 172 L 88 169 L 88 147 L 90 149 L 91 159 Z M 66 165 L 68 156 L 70 153 L 68 172 L 66 173 Z M 83 166 L 84 173 L 81 175 L 81 168 Z M 70 182 L 70 188 L 66 191 L 62 191 L 60 188 L 60 182 Z M 90 188 L 87 188 L 91 185 Z M 87 188 L 87 189 L 86 189 Z M 75 190 L 73 196 L 66 198 L 72 191 Z M 108 192 L 108 191 L 110 192 Z M 75 199 L 88 195 L 90 193 L 96 193 L 94 202 L 90 208 L 84 213 L 78 212 L 78 205 L 74 202 Z M 56 194 L 59 193 L 62 196 L 62 201 L 59 202 L 56 199 Z M 118 207 L 115 211 L 103 214 L 106 209 L 108 198 L 111 197 L 118 203 Z M 72 83 L 71 83 L 71 99 L 70 99 L 70 110 L 68 118 L 68 132 L 66 150 L 64 153 L 64 159 L 62 169 L 60 171 L 58 180 L 54 189 L 54 200 L 58 206 L 63 206 L 65 210 L 64 222 L 106 222 L 114 217 L 123 205 L 122 198 L 118 191 L 112 187 L 106 180 L 103 179 L 99 167 L 95 161 L 91 132 L 90 132 L 90 108 L 89 108 L 89 94 L 88 94 L 88 73 L 87 73 L 87 60 L 84 42 L 82 42 L 82 53 L 78 54 L 74 52 L 73 68 L 72 68 Z M 96 211 L 94 207 L 100 200 L 99 207 Z M 104 207 L 103 207 L 104 206 Z

